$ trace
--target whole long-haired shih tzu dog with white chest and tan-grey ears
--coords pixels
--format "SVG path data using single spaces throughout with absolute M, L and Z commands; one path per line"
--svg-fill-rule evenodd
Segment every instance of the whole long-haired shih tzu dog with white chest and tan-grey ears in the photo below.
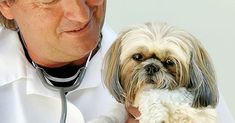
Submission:
M 208 53 L 190 33 L 166 23 L 122 32 L 106 54 L 103 79 L 118 102 L 139 108 L 140 123 L 217 122 Z

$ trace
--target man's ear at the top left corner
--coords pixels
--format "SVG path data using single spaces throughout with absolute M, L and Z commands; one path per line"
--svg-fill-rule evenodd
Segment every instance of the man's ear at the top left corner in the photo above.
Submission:
M 12 11 L 11 11 L 11 6 L 12 6 L 12 4 L 7 1 L 0 2 L 1 14 L 9 20 L 14 19 Z

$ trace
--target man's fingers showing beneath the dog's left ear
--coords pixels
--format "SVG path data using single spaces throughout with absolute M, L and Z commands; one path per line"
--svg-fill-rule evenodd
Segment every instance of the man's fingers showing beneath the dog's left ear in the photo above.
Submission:
M 138 108 L 129 106 L 126 107 L 126 110 L 128 112 L 128 118 L 126 123 L 139 123 L 139 121 L 136 120 L 136 118 L 140 116 Z

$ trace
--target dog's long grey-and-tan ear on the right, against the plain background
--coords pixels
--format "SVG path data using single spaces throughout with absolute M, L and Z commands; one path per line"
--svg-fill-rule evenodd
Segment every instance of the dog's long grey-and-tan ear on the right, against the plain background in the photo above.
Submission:
M 194 50 L 191 52 L 188 88 L 195 96 L 193 107 L 215 107 L 218 102 L 218 89 L 213 64 L 200 42 L 193 42 L 192 46 Z

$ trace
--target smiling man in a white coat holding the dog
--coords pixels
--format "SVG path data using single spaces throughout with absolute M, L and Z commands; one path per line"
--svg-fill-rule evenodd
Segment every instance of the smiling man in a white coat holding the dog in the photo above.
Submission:
M 115 101 L 100 70 L 115 34 L 107 27 L 101 31 L 105 5 L 106 0 L 0 0 L 0 23 L 8 28 L 0 27 L 1 123 L 58 123 L 60 93 L 40 79 L 57 87 L 73 85 L 86 63 L 79 88 L 65 92 L 66 123 L 108 112 Z

